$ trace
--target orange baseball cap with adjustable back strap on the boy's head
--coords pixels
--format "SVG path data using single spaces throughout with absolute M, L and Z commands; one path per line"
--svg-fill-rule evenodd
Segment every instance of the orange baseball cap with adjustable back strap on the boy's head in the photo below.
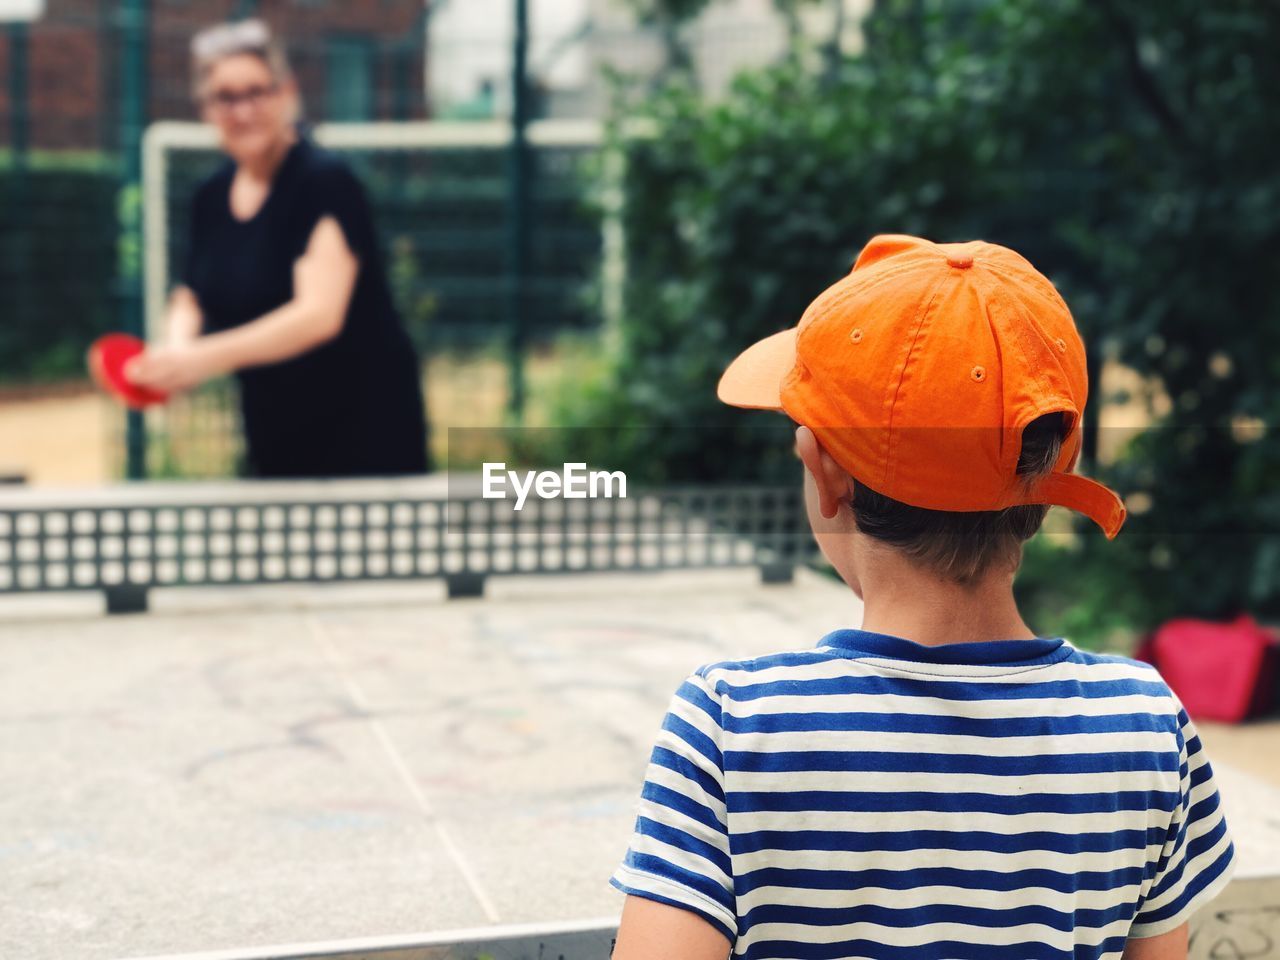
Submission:
M 984 241 L 883 234 L 790 330 L 724 371 L 724 403 L 810 428 L 859 483 L 914 507 L 1052 503 L 1114 539 L 1120 497 L 1071 472 L 1088 397 L 1084 343 L 1062 297 L 1024 257 Z M 1066 415 L 1053 472 L 1016 475 L 1024 428 Z

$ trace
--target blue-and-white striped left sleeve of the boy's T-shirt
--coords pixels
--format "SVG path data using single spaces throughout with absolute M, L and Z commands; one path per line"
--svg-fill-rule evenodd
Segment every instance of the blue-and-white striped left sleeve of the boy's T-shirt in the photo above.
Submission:
M 695 673 L 681 684 L 662 722 L 631 846 L 609 883 L 691 910 L 732 943 L 737 915 L 721 742 L 719 698 Z

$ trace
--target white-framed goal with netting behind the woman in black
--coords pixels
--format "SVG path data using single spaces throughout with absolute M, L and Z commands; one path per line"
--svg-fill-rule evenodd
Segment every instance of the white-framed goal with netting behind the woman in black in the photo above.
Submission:
M 352 165 L 370 198 L 394 298 L 422 360 L 435 431 L 499 422 L 512 406 L 512 384 L 525 379 L 529 349 L 567 333 L 600 332 L 605 302 L 617 297 L 593 291 L 602 289 L 596 278 L 620 275 L 622 250 L 608 212 L 613 201 L 596 191 L 600 179 L 588 169 L 599 152 L 598 123 L 545 120 L 529 129 L 534 243 L 518 352 L 506 308 L 509 124 L 321 124 L 314 136 Z M 221 156 L 212 129 L 177 122 L 154 124 L 143 155 L 145 312 L 148 337 L 163 339 L 165 300 L 182 279 L 191 196 Z M 461 398 L 472 416 L 486 419 L 460 421 Z M 147 475 L 234 476 L 236 419 L 230 383 L 148 411 Z M 115 457 L 122 465 L 123 440 Z

